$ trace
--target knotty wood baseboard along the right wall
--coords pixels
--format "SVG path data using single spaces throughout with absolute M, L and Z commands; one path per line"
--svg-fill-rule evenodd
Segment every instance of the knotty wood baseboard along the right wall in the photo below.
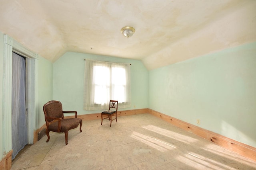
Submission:
M 211 141 L 212 143 L 215 143 L 221 147 L 224 147 L 225 149 L 231 150 L 231 151 L 236 152 L 246 158 L 256 161 L 256 148 L 251 147 L 250 145 L 240 143 L 240 142 L 230 139 L 228 137 L 224 137 L 224 136 L 214 133 L 212 131 L 208 131 L 201 127 L 192 125 L 190 123 L 186 123 L 184 121 L 181 121 L 174 117 L 170 117 L 168 115 L 165 115 L 158 111 L 154 111 L 152 109 L 148 109 L 148 113 L 150 113 L 156 117 L 160 117 L 161 119 L 171 123 L 172 125 L 180 127 L 181 129 L 184 129 L 191 133 L 194 133 L 208 141 Z

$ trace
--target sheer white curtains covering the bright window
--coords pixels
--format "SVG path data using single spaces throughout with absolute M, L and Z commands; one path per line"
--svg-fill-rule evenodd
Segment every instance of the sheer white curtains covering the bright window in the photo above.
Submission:
M 118 100 L 118 108 L 131 107 L 130 64 L 86 59 L 84 110 L 108 109 L 109 100 Z

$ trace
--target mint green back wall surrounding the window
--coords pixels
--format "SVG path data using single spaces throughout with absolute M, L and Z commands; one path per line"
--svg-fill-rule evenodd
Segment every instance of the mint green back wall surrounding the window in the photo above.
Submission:
M 132 107 L 122 110 L 148 108 L 148 70 L 141 61 L 68 52 L 53 64 L 53 99 L 61 101 L 64 110 L 76 110 L 79 115 L 101 112 L 83 110 L 83 59 L 131 63 Z

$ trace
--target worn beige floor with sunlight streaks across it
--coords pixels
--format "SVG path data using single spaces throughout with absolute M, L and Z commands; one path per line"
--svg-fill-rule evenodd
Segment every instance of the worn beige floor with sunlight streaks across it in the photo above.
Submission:
M 256 170 L 256 162 L 150 114 L 83 121 L 29 147 L 12 170 Z

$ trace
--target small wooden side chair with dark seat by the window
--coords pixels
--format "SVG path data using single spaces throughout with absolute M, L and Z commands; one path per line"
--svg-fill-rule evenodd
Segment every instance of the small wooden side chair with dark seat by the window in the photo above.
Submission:
M 112 120 L 116 119 L 116 122 L 117 122 L 117 117 L 112 119 L 112 115 L 117 113 L 117 106 L 118 106 L 118 100 L 110 100 L 109 101 L 108 110 L 103 111 L 101 113 L 101 125 L 102 125 L 102 121 L 103 121 L 103 115 L 107 116 L 104 119 L 110 120 L 110 127 L 111 127 L 111 124 L 112 124 Z

